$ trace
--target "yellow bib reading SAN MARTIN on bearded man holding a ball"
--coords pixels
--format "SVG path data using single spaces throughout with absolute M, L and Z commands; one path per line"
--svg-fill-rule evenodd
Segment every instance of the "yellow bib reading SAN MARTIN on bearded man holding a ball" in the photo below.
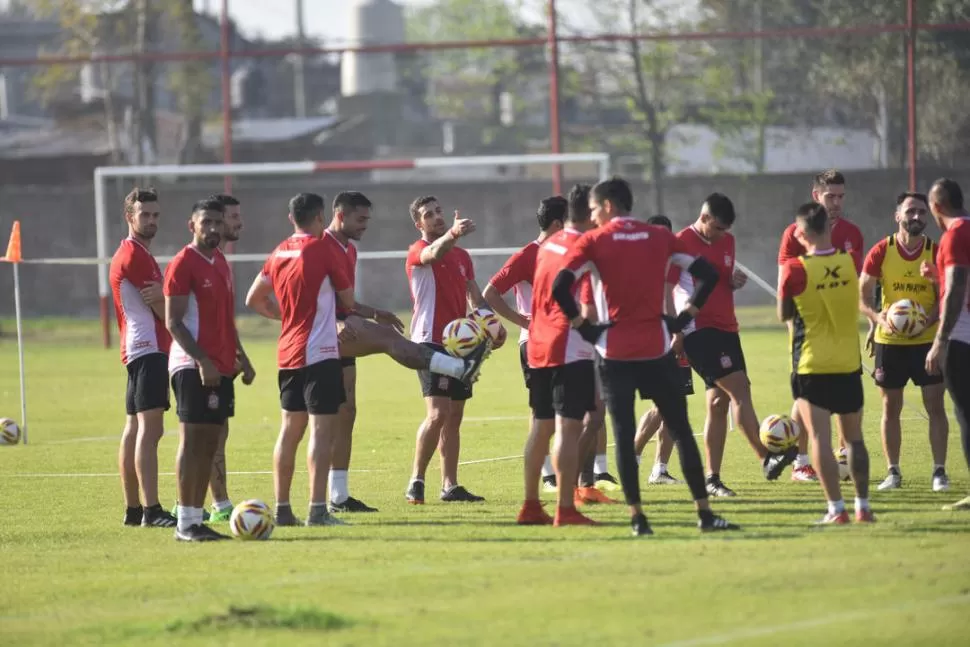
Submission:
M 924 261 L 933 265 L 933 241 L 929 238 L 926 239 L 919 256 L 911 261 L 903 258 L 895 235 L 887 239 L 886 257 L 882 261 L 882 277 L 879 279 L 882 284 L 881 310 L 885 311 L 900 299 L 912 299 L 920 304 L 927 314 L 932 314 L 932 309 L 936 306 L 936 290 L 932 281 L 920 276 L 919 266 Z M 879 326 L 876 328 L 875 340 L 880 344 L 915 346 L 932 344 L 935 336 L 936 324 L 916 337 L 894 335 Z

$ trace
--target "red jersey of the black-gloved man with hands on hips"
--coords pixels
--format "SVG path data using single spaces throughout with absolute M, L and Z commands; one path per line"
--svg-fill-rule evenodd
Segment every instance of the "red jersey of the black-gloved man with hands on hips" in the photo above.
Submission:
M 603 357 L 654 359 L 670 351 L 662 317 L 671 262 L 686 269 L 694 257 L 670 230 L 629 216 L 587 232 L 569 251 L 568 269 L 579 274 L 595 270 L 599 317 L 614 322 L 596 343 Z

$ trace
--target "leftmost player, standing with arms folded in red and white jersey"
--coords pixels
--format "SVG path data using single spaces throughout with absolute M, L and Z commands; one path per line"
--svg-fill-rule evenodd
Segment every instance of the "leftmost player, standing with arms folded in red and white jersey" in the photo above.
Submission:
M 154 189 L 134 188 L 125 196 L 128 237 L 111 259 L 121 362 L 128 371 L 125 430 L 118 468 L 125 495 L 125 525 L 171 528 L 175 517 L 158 502 L 158 441 L 165 432 L 168 349 L 162 272 L 149 251 L 161 211 Z M 142 500 L 138 498 L 141 487 Z M 144 503 L 144 505 L 142 505 Z

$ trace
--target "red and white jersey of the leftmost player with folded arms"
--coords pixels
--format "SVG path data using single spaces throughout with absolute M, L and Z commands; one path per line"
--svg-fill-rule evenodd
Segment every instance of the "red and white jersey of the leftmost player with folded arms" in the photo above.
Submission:
M 132 237 L 121 241 L 108 273 L 121 337 L 121 362 L 149 353 L 167 353 L 172 338 L 165 322 L 141 298 L 141 290 L 162 282 L 162 271 L 148 248 Z

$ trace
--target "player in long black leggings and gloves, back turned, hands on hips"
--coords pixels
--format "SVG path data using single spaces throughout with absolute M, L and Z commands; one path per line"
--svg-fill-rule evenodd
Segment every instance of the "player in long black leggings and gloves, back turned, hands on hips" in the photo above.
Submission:
M 677 332 L 704 305 L 717 283 L 717 271 L 703 258 L 688 255 L 683 243 L 666 229 L 632 218 L 633 193 L 624 180 L 613 178 L 594 186 L 589 206 L 598 227 L 580 238 L 566 255 L 565 269 L 553 283 L 553 297 L 580 335 L 595 343 L 633 534 L 653 534 L 640 503 L 633 444 L 637 392 L 641 398 L 654 401 L 677 442 L 681 467 L 697 507 L 698 527 L 705 532 L 736 530 L 738 526 L 711 511 L 704 466 L 687 419 L 687 398 L 670 347 L 671 327 Z M 664 290 L 669 262 L 689 271 L 697 284 L 687 310 L 668 321 L 664 318 Z M 593 289 L 598 317 L 604 322 L 601 324 L 580 316 L 572 294 L 577 274 L 590 270 L 594 270 Z

